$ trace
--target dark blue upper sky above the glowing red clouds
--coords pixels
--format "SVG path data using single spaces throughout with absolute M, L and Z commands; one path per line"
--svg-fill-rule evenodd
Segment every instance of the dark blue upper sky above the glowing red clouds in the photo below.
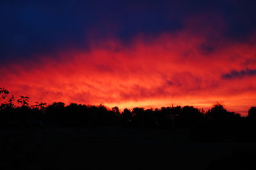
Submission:
M 256 28 L 255 1 L 1 1 L 0 61 L 62 49 L 88 49 L 88 40 L 157 36 L 184 28 L 193 16 L 218 15 L 223 35 L 246 41 Z M 212 23 L 211 23 L 212 22 Z M 214 20 L 198 23 L 218 26 Z M 198 31 L 202 31 L 198 29 Z

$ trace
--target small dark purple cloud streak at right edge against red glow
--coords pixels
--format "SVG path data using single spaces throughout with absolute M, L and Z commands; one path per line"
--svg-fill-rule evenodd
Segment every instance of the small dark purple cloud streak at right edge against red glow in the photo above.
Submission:
M 223 79 L 241 79 L 246 76 L 256 76 L 256 70 L 246 68 L 246 70 L 232 70 L 230 73 L 223 73 L 223 75 L 221 75 Z

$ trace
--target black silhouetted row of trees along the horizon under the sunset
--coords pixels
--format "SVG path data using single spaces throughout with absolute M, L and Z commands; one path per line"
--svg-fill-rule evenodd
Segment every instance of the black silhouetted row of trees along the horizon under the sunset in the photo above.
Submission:
M 230 112 L 221 104 L 214 104 L 204 111 L 186 105 L 145 109 L 134 107 L 120 111 L 118 107 L 104 105 L 69 104 L 63 102 L 36 102 L 29 105 L 29 97 L 15 98 L 5 88 L 0 88 L 1 127 L 67 127 L 67 126 L 113 126 L 124 128 L 156 128 L 191 130 L 191 139 L 220 141 L 256 141 L 253 129 L 256 127 L 256 107 L 242 117 Z

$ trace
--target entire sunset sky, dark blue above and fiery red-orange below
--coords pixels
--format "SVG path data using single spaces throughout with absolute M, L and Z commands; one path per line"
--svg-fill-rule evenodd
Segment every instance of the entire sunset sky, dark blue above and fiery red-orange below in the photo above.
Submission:
M 1 1 L 0 86 L 35 102 L 256 105 L 255 1 Z

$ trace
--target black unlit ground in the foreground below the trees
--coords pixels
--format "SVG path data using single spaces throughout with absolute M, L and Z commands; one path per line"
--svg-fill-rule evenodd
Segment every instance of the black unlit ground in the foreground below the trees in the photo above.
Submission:
M 189 130 L 12 128 L 1 169 L 256 169 L 255 143 L 196 143 Z

